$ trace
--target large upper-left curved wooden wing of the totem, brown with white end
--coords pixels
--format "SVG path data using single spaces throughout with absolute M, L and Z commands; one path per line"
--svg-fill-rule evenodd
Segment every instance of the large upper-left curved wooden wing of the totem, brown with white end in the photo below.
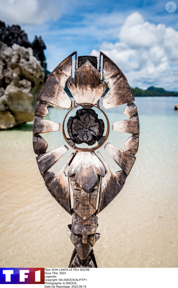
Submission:
M 72 57 L 61 62 L 50 74 L 41 90 L 39 100 L 69 109 L 72 100 L 64 91 L 69 76 L 72 76 Z

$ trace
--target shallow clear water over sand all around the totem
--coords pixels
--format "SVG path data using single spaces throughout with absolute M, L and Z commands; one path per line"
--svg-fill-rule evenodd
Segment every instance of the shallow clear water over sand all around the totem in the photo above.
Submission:
M 174 105 L 178 97 L 137 97 L 134 103 L 140 121 L 139 150 L 124 188 L 98 214 L 101 238 L 94 246 L 95 255 L 99 267 L 177 267 L 178 111 Z M 125 106 L 105 110 L 110 125 L 127 118 L 122 114 Z M 49 111 L 45 118 L 62 125 L 67 110 Z M 0 135 L 1 265 L 67 267 L 73 250 L 66 234 L 71 217 L 44 186 L 32 147 L 32 123 Z M 42 136 L 48 151 L 66 144 L 61 128 Z M 124 149 L 129 137 L 110 131 L 107 142 Z M 72 150 L 69 147 L 50 170 L 58 173 Z M 120 170 L 103 147 L 100 152 L 112 172 Z

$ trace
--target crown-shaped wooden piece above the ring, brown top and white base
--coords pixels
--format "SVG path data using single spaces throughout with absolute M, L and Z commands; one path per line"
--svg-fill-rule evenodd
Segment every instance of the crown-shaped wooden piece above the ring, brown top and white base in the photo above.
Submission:
M 68 88 L 76 103 L 96 104 L 106 90 L 106 83 L 100 83 L 100 72 L 89 62 L 75 70 L 75 79 L 69 77 Z

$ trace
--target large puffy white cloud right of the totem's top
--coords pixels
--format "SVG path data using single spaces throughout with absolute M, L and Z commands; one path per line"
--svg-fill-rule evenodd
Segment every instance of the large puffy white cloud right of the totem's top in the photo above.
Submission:
M 118 35 L 119 42 L 101 45 L 132 87 L 149 86 L 178 90 L 178 31 L 145 21 L 138 12 L 129 15 Z M 97 51 L 91 52 L 97 55 Z

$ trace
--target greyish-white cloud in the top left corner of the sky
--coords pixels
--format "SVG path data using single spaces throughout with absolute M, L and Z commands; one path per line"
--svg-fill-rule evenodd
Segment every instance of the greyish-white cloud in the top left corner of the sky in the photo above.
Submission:
M 0 0 L 0 18 L 8 24 L 41 24 L 56 20 L 64 0 Z

